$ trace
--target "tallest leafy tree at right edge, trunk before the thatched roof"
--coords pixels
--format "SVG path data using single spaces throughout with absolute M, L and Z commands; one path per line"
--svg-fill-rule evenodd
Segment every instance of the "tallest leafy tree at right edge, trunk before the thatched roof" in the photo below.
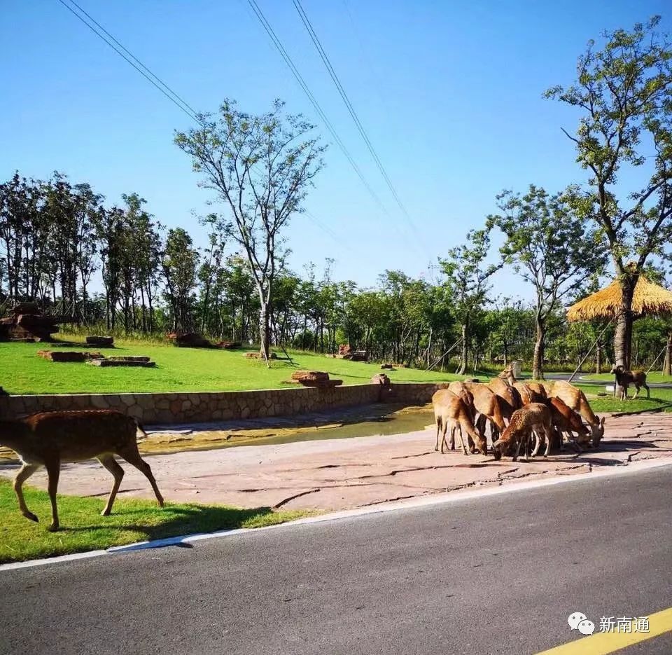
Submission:
M 577 162 L 589 171 L 577 206 L 595 219 L 610 249 L 622 303 L 614 336 L 616 364 L 631 366 L 632 298 L 647 258 L 672 237 L 672 50 L 658 34 L 659 16 L 631 32 L 605 32 L 602 50 L 589 41 L 577 80 L 546 97 L 580 110 Z M 640 169 L 641 188 L 622 192 L 624 167 Z

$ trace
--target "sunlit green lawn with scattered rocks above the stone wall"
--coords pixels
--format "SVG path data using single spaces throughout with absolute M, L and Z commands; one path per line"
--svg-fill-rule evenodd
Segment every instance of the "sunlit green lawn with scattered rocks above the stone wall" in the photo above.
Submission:
M 66 394 L 118 392 L 188 392 L 274 389 L 297 368 L 327 371 L 344 385 L 368 382 L 380 372 L 379 364 L 331 359 L 305 352 L 290 353 L 289 361 L 246 359 L 243 350 L 177 348 L 118 340 L 116 348 L 103 349 L 108 355 L 147 355 L 156 368 L 98 368 L 88 364 L 56 363 L 37 357 L 38 350 L 83 350 L 85 346 L 55 346 L 47 343 L 0 343 L 0 386 L 10 394 Z M 97 350 L 97 349 L 89 349 Z M 279 356 L 283 356 L 279 353 Z M 399 368 L 385 371 L 393 382 L 444 382 L 458 375 Z

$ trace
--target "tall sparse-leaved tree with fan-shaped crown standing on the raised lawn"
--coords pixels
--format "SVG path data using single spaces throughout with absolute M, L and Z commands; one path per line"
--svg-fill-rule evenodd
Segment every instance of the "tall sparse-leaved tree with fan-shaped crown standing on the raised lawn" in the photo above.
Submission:
M 187 153 L 203 186 L 216 191 L 233 221 L 221 230 L 243 248 L 260 302 L 262 357 L 269 355 L 269 303 L 282 251 L 281 232 L 300 212 L 312 179 L 321 169 L 325 146 L 310 137 L 314 125 L 302 116 L 283 115 L 283 103 L 251 116 L 225 100 L 218 116 L 199 116 L 200 127 L 178 132 L 176 145 Z

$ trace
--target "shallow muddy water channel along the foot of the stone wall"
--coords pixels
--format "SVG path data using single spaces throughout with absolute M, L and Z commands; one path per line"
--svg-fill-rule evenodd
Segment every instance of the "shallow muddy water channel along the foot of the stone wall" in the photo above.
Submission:
M 433 422 L 434 415 L 428 407 L 395 408 L 390 405 L 374 405 L 335 411 L 328 416 L 284 419 L 278 421 L 277 425 L 273 425 L 273 421 L 269 419 L 265 421 L 268 425 L 253 429 L 244 429 L 246 422 L 241 421 L 239 425 L 230 429 L 153 432 L 148 439 L 139 441 L 138 446 L 140 452 L 146 455 L 161 455 L 187 450 L 213 450 L 316 439 L 351 439 L 356 436 L 402 434 L 421 430 Z M 0 447 L 0 462 L 3 461 L 16 460 L 11 450 Z

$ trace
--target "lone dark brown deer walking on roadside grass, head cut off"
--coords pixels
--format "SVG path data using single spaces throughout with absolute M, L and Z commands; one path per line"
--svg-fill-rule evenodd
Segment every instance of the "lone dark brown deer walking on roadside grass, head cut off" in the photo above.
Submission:
M 0 421 L 0 443 L 14 450 L 22 462 L 22 467 L 14 478 L 14 491 L 22 515 L 38 522 L 37 516 L 26 506 L 22 486 L 35 471 L 45 467 L 52 515 L 48 530 L 56 532 L 60 527 L 56 491 L 62 462 L 80 462 L 95 458 L 114 478 L 112 490 L 102 511 L 102 516 L 109 516 L 124 476 L 124 469 L 116 462 L 114 455 L 119 455 L 146 476 L 159 506 L 162 507 L 163 497 L 152 469 L 140 457 L 138 429 L 146 436 L 147 433 L 134 418 L 112 409 L 40 412 L 20 420 Z

